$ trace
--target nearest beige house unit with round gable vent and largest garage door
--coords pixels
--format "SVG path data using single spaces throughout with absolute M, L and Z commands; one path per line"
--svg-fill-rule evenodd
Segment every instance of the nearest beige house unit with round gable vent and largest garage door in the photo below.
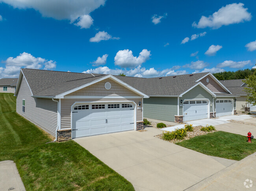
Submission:
M 21 69 L 16 111 L 59 141 L 143 127 L 147 95 L 112 75 Z

